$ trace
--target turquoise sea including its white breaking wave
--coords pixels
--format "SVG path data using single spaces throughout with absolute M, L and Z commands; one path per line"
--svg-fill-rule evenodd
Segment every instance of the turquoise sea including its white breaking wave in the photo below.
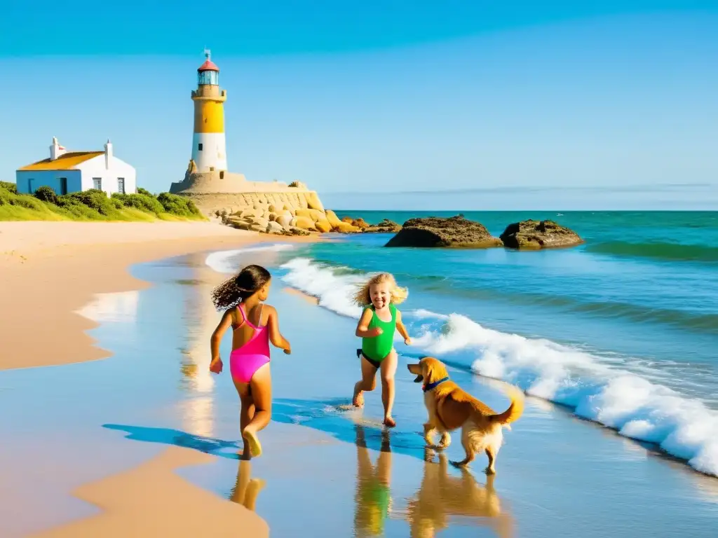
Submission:
M 368 222 L 422 215 L 351 214 Z M 401 308 L 415 346 L 398 344 L 400 352 L 516 383 L 718 474 L 718 213 L 465 216 L 494 235 L 510 222 L 551 218 L 586 242 L 522 253 L 384 248 L 389 235 L 342 236 L 281 247 L 279 274 L 321 306 L 356 317 L 353 286 L 389 271 L 409 288 Z M 229 254 L 210 265 L 237 263 Z

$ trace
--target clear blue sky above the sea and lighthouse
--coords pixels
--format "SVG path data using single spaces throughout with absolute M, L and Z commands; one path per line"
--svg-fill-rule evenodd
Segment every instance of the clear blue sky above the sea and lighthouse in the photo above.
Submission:
M 166 190 L 207 46 L 230 170 L 333 207 L 718 209 L 718 0 L 258 4 L 4 8 L 0 179 L 110 137 Z

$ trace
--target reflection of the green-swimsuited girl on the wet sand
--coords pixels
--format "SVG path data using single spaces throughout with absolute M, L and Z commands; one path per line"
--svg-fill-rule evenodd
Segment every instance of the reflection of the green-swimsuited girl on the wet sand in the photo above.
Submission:
M 357 489 L 355 494 L 355 536 L 382 536 L 391 510 L 391 447 L 388 430 L 381 432 L 381 451 L 376 466 L 371 463 L 365 429 L 355 425 L 357 445 Z

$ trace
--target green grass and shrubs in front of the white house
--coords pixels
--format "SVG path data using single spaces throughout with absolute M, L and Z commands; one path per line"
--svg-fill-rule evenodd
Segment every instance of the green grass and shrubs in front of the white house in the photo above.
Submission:
M 161 192 L 113 194 L 91 189 L 57 196 L 50 187 L 18 194 L 15 184 L 0 181 L 0 220 L 75 220 L 147 222 L 207 220 L 190 199 Z

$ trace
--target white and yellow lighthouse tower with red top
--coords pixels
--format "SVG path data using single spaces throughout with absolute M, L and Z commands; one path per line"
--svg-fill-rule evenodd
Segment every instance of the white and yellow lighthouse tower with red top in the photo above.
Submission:
M 195 134 L 192 137 L 192 160 L 198 172 L 227 169 L 224 132 L 224 102 L 227 92 L 220 90 L 220 68 L 205 50 L 205 63 L 197 69 L 195 102 Z

